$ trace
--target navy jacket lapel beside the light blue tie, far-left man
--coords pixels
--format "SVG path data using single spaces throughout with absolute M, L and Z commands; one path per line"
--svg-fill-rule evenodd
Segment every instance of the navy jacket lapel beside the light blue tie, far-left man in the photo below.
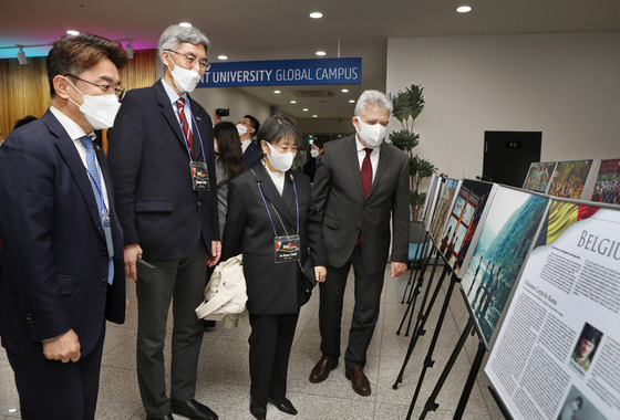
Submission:
M 103 237 L 103 227 L 101 225 L 101 218 L 99 216 L 99 208 L 96 206 L 93 187 L 91 186 L 89 174 L 86 172 L 86 168 L 80 158 L 80 154 L 75 149 L 73 140 L 69 137 L 66 130 L 51 112 L 48 111 L 41 119 L 43 119 L 50 132 L 58 138 L 55 143 L 56 147 L 66 162 L 66 166 L 71 170 L 75 183 L 78 183 L 78 187 L 82 192 L 82 197 L 84 198 L 84 202 L 86 203 L 86 208 L 89 209 L 89 214 L 91 214 L 93 223 Z

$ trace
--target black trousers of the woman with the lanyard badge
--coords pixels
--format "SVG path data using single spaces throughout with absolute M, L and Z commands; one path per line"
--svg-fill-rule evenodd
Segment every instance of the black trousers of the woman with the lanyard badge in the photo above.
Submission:
M 269 397 L 287 395 L 289 356 L 299 314 L 250 314 L 250 395 L 266 407 Z

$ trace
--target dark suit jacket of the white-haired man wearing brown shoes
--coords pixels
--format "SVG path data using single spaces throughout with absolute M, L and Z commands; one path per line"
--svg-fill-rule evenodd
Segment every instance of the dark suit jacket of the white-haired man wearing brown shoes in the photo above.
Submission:
M 323 225 L 329 263 L 347 263 L 362 231 L 362 253 L 369 273 L 392 261 L 407 262 L 409 253 L 409 156 L 383 143 L 368 198 L 364 199 L 355 135 L 326 144 L 317 167 L 312 197 Z

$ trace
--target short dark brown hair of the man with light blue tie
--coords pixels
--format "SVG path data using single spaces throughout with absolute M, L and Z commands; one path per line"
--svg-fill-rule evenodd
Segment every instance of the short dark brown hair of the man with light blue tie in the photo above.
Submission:
M 55 76 L 65 74 L 79 76 L 104 59 L 110 60 L 116 69 L 122 69 L 127 63 L 127 55 L 118 42 L 90 33 L 62 36 L 54 42 L 48 54 L 50 95 L 54 97 L 56 94 L 54 91 Z

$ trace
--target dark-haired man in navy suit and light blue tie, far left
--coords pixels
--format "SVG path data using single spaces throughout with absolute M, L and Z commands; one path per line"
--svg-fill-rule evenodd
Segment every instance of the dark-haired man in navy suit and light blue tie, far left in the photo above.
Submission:
M 80 34 L 48 56 L 50 109 L 0 147 L 0 335 L 23 419 L 93 419 L 105 319 L 125 319 L 123 233 L 105 155 L 121 44 Z

